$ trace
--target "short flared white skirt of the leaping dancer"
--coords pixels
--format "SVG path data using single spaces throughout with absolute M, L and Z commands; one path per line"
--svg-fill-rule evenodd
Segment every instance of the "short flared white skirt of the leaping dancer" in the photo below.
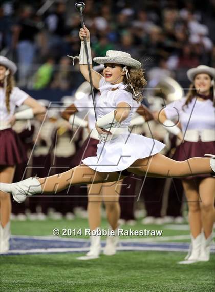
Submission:
M 114 172 L 128 168 L 137 159 L 159 153 L 165 144 L 138 134 L 120 134 L 97 147 L 96 156 L 82 162 L 99 172 Z

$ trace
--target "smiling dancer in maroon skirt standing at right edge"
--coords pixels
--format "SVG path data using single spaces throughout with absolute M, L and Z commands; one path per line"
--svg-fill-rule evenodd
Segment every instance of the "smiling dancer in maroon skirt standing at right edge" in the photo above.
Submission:
M 183 161 L 191 157 L 204 157 L 215 153 L 214 76 L 215 69 L 200 65 L 187 71 L 191 81 L 186 98 L 168 104 L 159 115 L 169 132 L 182 143 L 174 159 Z M 180 119 L 182 130 L 171 119 Z M 207 174 L 183 179 L 189 207 L 191 251 L 181 263 L 209 261 L 214 223 L 215 180 Z

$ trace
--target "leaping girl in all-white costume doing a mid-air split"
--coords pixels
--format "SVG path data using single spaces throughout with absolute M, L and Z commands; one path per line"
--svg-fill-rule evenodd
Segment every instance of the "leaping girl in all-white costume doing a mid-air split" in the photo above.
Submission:
M 100 134 L 97 155 L 85 158 L 83 164 L 54 176 L 31 177 L 13 184 L 0 183 L 0 190 L 12 193 L 14 200 L 21 203 L 26 196 L 57 193 L 76 184 L 114 182 L 131 173 L 165 178 L 205 173 L 214 175 L 215 155 L 175 161 L 159 153 L 165 144 L 128 131 L 134 108 L 142 99 L 140 91 L 146 85 L 141 63 L 128 53 L 107 51 L 105 57 L 94 58 L 95 62 L 105 66 L 102 77 L 92 69 L 90 32 L 87 27 L 80 29 L 79 36 L 82 41 L 80 71 L 90 82 L 90 65 L 93 86 L 101 92 L 95 124 Z M 86 58 L 86 50 L 89 58 Z

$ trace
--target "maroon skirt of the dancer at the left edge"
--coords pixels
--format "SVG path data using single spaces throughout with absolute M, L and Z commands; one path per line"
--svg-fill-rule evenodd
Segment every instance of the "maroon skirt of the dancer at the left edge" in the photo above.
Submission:
M 16 165 L 28 160 L 25 147 L 12 129 L 0 131 L 0 165 Z

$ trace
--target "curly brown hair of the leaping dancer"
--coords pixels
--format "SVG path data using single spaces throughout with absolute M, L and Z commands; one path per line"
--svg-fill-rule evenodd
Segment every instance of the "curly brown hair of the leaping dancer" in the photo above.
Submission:
M 132 93 L 133 99 L 139 103 L 143 99 L 142 91 L 147 84 L 147 81 L 144 76 L 144 70 L 142 68 L 135 70 L 131 69 L 130 67 L 127 67 L 127 69 L 130 74 L 130 78 L 127 79 L 125 76 L 123 82 L 124 84 L 128 85 L 127 90 Z M 137 96 L 134 96 L 134 92 L 131 88 L 131 85 L 133 86 L 134 91 L 138 93 Z

